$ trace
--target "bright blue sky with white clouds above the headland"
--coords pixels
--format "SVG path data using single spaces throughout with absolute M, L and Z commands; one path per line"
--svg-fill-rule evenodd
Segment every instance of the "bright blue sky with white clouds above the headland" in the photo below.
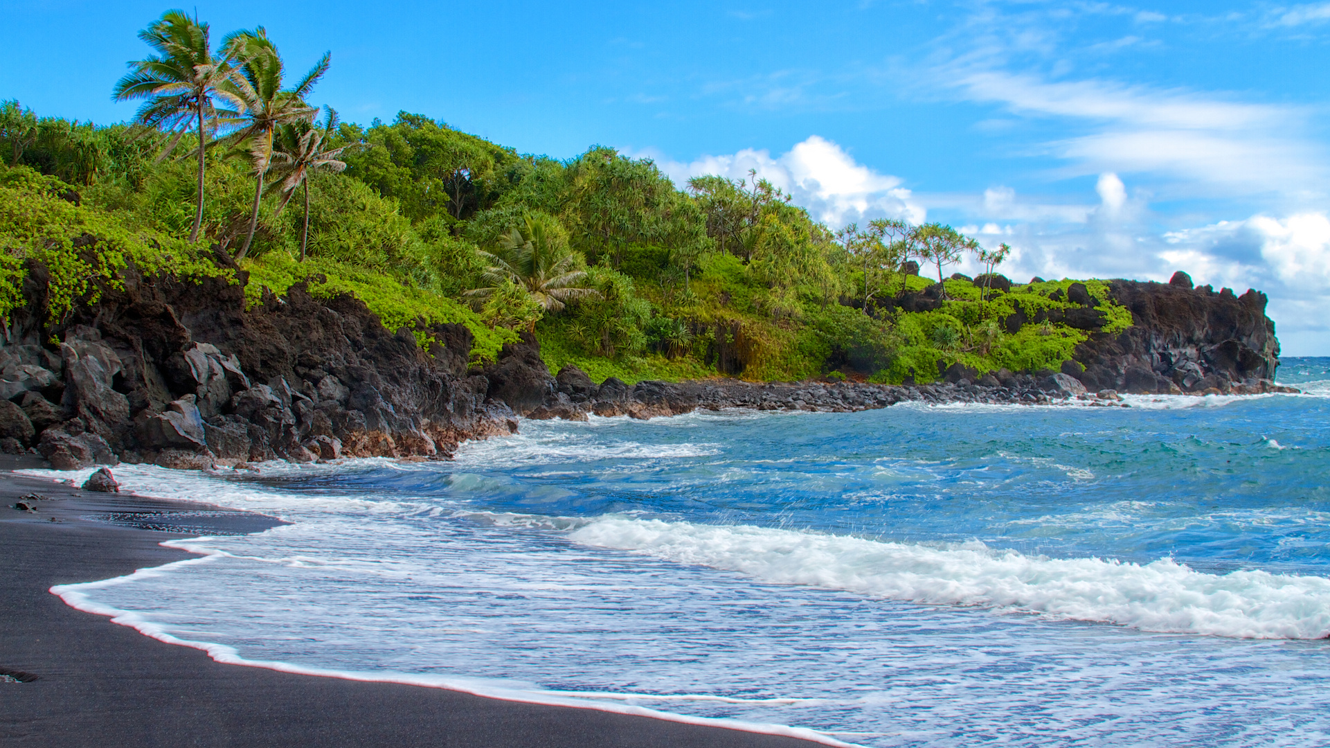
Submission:
M 0 97 L 116 121 L 166 5 L 0 0 Z M 189 9 L 193 9 L 190 5 Z M 1287 355 L 1330 355 L 1330 3 L 200 3 L 262 24 L 317 101 L 406 109 L 677 180 L 757 169 L 830 224 L 950 222 L 1024 280 L 1270 294 Z

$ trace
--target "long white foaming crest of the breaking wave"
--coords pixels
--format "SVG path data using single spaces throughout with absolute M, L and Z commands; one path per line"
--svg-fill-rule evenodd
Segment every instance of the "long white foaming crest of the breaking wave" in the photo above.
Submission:
M 983 606 L 1144 631 L 1244 639 L 1330 634 L 1330 579 L 1198 572 L 1162 558 L 1051 559 L 982 543 L 930 547 L 750 526 L 604 516 L 571 536 L 677 563 L 915 603 Z

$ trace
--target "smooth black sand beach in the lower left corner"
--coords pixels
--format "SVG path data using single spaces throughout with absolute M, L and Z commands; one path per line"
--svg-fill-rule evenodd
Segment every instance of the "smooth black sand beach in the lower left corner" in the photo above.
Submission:
M 32 461 L 33 467 L 39 461 Z M 106 512 L 215 510 L 69 486 L 0 467 L 0 744 L 98 747 L 795 747 L 811 743 L 596 709 L 547 707 L 391 683 L 290 675 L 213 661 L 165 644 L 52 595 L 161 566 L 188 554 L 158 546 L 185 536 L 86 519 Z M 17 511 L 28 492 L 51 496 Z M 166 524 L 258 531 L 274 523 L 245 512 L 162 516 Z M 57 522 L 51 522 L 55 518 Z

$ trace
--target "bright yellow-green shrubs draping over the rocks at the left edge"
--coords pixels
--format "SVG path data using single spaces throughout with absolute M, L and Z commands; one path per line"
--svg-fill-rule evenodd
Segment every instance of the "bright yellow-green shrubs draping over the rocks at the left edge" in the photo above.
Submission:
M 0 172 L 0 318 L 5 323 L 24 302 L 23 285 L 32 265 L 49 274 L 49 322 L 77 303 L 97 301 L 104 287 L 122 289 L 122 273 L 130 266 L 145 277 L 229 276 L 185 241 L 61 198 L 69 194 L 74 194 L 69 185 L 27 166 Z

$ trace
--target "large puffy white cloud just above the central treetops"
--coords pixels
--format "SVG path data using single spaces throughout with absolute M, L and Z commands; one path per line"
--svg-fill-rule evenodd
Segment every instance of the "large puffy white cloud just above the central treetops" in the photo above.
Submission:
M 779 156 L 746 148 L 688 164 L 657 160 L 657 165 L 680 186 L 704 174 L 743 180 L 750 170 L 757 172 L 797 205 L 807 208 L 814 218 L 833 226 L 879 217 L 920 224 L 927 214 L 912 193 L 900 186 L 899 177 L 859 164 L 843 148 L 819 136 L 810 136 Z

